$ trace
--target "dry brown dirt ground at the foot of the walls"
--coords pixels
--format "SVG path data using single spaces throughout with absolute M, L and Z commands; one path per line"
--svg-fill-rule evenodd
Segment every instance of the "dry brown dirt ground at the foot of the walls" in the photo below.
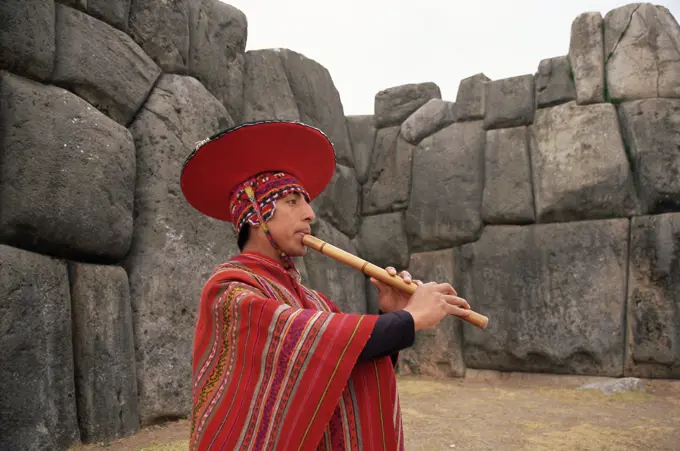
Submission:
M 680 381 L 644 392 L 578 390 L 602 380 L 468 371 L 465 379 L 400 377 L 407 451 L 678 451 Z M 188 423 L 143 429 L 78 451 L 185 451 Z

